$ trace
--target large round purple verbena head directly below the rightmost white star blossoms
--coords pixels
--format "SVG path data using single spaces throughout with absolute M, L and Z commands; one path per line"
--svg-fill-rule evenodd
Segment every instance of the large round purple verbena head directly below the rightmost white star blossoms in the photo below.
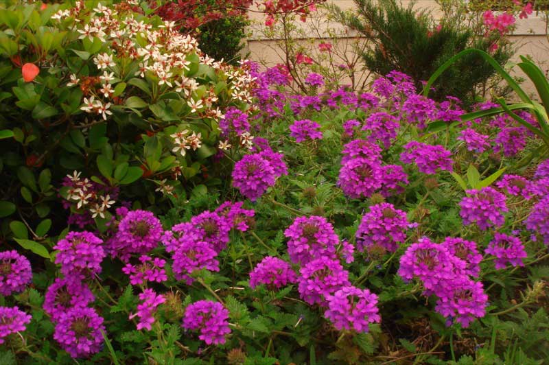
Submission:
M 233 187 L 246 198 L 255 202 L 277 180 L 270 162 L 260 154 L 247 154 L 235 163 Z

